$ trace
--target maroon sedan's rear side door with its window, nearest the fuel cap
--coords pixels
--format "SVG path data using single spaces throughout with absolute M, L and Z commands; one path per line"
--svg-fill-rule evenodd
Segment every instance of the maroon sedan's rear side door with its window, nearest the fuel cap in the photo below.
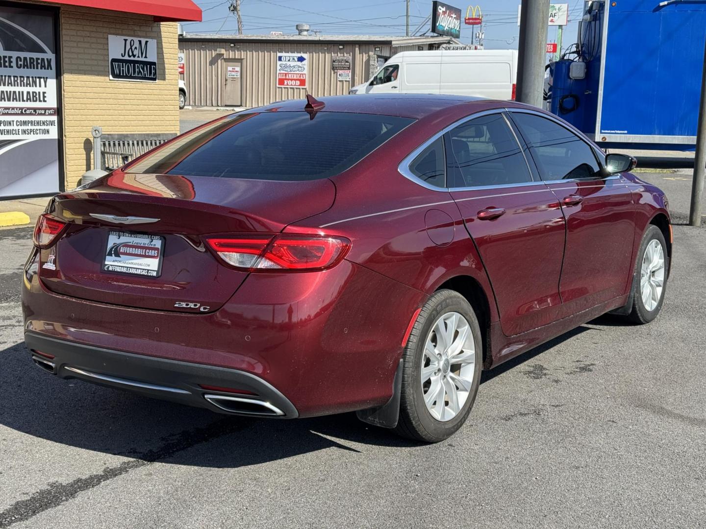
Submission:
M 530 174 L 501 111 L 445 135 L 450 192 L 493 286 L 508 336 L 556 320 L 564 218 L 556 197 Z

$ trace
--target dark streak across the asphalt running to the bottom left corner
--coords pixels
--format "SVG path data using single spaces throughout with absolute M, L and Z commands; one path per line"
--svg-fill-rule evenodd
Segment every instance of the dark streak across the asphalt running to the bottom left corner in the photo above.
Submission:
M 80 492 L 97 487 L 101 483 L 117 478 L 131 470 L 151 465 L 156 461 L 174 456 L 181 451 L 211 439 L 238 432 L 250 424 L 250 421 L 243 419 L 224 418 L 217 420 L 208 426 L 194 430 L 184 430 L 179 434 L 175 434 L 172 437 L 176 437 L 176 439 L 163 444 L 159 448 L 150 449 L 131 461 L 124 461 L 117 466 L 104 468 L 101 473 L 76 478 L 76 480 L 68 483 L 49 483 L 48 487 L 32 493 L 28 499 L 16 501 L 8 509 L 1 511 L 0 529 L 7 528 L 15 523 L 28 521 L 30 518 L 37 516 L 37 514 L 66 503 L 80 494 Z

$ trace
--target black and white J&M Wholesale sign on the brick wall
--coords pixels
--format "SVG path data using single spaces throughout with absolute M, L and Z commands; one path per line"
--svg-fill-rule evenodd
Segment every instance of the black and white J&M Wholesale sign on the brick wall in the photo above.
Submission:
M 157 81 L 157 40 L 108 35 L 110 78 Z

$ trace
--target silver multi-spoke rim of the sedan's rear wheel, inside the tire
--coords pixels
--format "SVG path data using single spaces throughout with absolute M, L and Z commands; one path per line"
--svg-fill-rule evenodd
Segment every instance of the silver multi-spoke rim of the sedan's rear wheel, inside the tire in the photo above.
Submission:
M 446 312 L 431 327 L 421 359 L 421 391 L 436 420 L 453 419 L 473 385 L 476 354 L 471 327 L 458 312 Z

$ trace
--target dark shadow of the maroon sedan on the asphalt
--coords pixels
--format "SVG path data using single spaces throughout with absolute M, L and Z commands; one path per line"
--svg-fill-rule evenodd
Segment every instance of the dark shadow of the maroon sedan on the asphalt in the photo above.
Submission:
M 589 330 L 578 327 L 485 371 L 481 384 Z M 242 418 L 59 379 L 32 364 L 24 343 L 0 351 L 0 358 L 0 424 L 78 449 L 143 461 L 238 468 L 329 448 L 358 452 L 357 445 L 424 446 L 366 425 L 354 413 L 297 420 Z M 220 438 L 220 446 L 234 449 L 198 449 Z

